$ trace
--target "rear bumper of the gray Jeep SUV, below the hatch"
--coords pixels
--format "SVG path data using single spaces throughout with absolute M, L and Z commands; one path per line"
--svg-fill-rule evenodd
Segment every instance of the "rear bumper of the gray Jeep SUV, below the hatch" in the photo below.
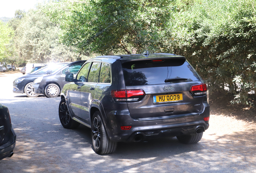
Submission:
M 110 111 L 105 109 L 106 112 Z M 107 134 L 112 141 L 136 141 L 136 136 L 142 139 L 156 137 L 173 137 L 179 135 L 196 134 L 198 128 L 205 131 L 209 128 L 209 121 L 204 121 L 204 117 L 210 116 L 210 106 L 204 103 L 203 110 L 197 114 L 186 114 L 179 117 L 166 117 L 166 119 L 156 119 L 139 121 L 132 119 L 128 110 L 110 111 L 106 117 L 109 121 L 105 124 Z M 130 130 L 121 130 L 120 126 L 132 126 Z

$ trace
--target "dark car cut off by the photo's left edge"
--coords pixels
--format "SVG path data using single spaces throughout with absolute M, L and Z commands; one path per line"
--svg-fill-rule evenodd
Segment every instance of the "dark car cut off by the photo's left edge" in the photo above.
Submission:
M 9 110 L 0 104 L 0 160 L 12 157 L 16 145 L 16 133 L 12 128 Z

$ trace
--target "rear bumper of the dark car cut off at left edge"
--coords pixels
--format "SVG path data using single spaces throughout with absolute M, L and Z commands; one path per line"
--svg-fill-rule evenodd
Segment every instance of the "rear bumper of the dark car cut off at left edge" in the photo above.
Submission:
M 15 145 L 16 145 L 16 133 L 11 125 L 9 141 L 3 145 L 0 145 L 0 160 L 6 157 L 9 157 L 10 154 L 13 152 Z

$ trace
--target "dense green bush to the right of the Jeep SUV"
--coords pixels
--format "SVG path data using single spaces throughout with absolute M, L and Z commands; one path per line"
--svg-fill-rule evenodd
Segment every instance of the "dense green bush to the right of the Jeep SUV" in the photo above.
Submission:
M 251 104 L 248 93 L 256 96 L 255 4 L 202 0 L 176 12 L 170 27 L 173 51 L 188 58 L 211 90 L 228 88 L 235 95 L 232 103 Z

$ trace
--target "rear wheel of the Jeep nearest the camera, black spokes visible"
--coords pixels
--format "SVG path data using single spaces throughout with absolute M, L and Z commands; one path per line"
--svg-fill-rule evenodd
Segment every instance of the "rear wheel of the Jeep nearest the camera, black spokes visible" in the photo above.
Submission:
M 111 141 L 107 137 L 99 111 L 95 112 L 91 119 L 91 137 L 95 153 L 103 155 L 113 153 L 116 150 L 117 142 Z

